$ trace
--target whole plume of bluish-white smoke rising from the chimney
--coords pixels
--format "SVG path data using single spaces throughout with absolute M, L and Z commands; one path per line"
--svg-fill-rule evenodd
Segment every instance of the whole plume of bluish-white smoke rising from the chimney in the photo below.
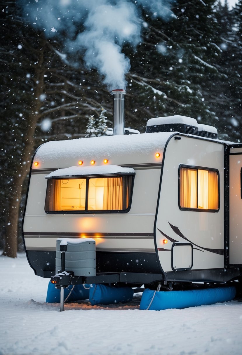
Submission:
M 60 31 L 68 35 L 66 48 L 71 53 L 84 51 L 84 60 L 91 69 L 104 76 L 109 89 L 125 89 L 125 74 L 130 60 L 122 46 L 136 46 L 141 38 L 141 9 L 153 16 L 169 19 L 169 4 L 174 0 L 32 0 L 23 2 L 24 15 L 33 26 L 45 31 L 47 37 Z M 77 24 L 83 32 L 77 36 Z

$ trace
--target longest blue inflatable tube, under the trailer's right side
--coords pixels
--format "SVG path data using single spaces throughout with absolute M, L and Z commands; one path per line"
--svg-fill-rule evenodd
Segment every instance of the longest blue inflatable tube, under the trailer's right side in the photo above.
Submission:
M 161 311 L 168 308 L 187 308 L 212 305 L 234 299 L 235 287 L 220 287 L 188 291 L 153 291 L 145 289 L 141 298 L 140 309 Z M 154 298 L 153 298 L 154 297 Z M 153 300 L 152 300 L 153 299 Z

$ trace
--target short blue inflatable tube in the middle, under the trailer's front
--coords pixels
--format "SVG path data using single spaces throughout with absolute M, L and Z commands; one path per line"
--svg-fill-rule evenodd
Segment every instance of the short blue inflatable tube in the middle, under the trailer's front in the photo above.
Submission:
M 131 287 L 111 287 L 106 285 L 91 285 L 89 301 L 92 306 L 128 302 L 133 299 L 134 291 Z

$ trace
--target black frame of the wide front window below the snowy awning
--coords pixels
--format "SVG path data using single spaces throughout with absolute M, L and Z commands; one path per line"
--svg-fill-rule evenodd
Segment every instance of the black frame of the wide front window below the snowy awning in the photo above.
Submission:
M 128 208 L 126 209 L 111 209 L 111 210 L 88 210 L 88 190 L 89 190 L 89 180 L 95 178 L 121 178 L 122 176 L 131 176 L 131 192 L 130 192 L 130 199 L 128 203 Z M 127 213 L 131 209 L 132 204 L 132 197 L 133 197 L 133 186 L 134 186 L 134 176 L 135 173 L 117 173 L 117 174 L 97 174 L 97 175 L 72 175 L 72 176 L 53 176 L 51 178 L 46 178 L 46 193 L 45 193 L 45 204 L 46 199 L 48 198 L 48 180 L 70 180 L 70 179 L 86 179 L 86 195 L 85 195 L 85 210 L 73 210 L 73 211 L 46 211 L 45 204 L 44 204 L 44 211 L 46 214 L 109 214 L 109 213 Z

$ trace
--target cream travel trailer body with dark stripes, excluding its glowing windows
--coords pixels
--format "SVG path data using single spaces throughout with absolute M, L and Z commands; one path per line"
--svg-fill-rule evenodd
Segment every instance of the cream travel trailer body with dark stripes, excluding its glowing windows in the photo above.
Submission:
M 55 274 L 56 239 L 91 237 L 97 271 L 130 273 L 131 283 L 137 280 L 134 274 L 141 283 L 142 275 L 143 283 L 227 282 L 239 277 L 241 158 L 240 145 L 172 131 L 43 144 L 33 157 L 23 220 L 31 267 L 35 274 L 50 277 Z M 182 206 L 182 169 L 214 175 L 215 207 Z M 135 176 L 126 211 L 45 211 L 48 179 L 131 172 Z

